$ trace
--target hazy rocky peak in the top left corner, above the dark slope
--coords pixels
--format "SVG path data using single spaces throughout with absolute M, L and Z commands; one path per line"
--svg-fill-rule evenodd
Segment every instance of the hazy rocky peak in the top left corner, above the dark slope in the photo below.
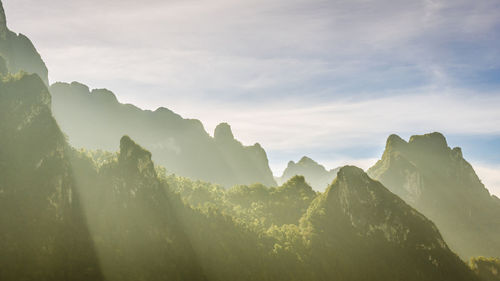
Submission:
M 0 1 L 0 57 L 6 61 L 11 73 L 35 73 L 49 84 L 48 70 L 33 43 L 23 34 L 16 34 L 7 27 L 7 19 Z

